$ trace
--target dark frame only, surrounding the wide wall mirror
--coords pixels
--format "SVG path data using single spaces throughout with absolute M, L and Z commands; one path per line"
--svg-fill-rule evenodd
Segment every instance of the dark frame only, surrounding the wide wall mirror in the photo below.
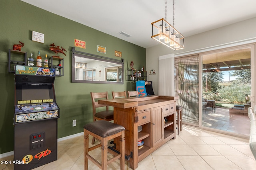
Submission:
M 88 59 L 94 59 L 94 60 L 99 60 L 99 61 L 106 61 L 106 62 L 121 64 L 122 65 L 122 82 L 75 80 L 75 70 L 76 70 L 75 57 L 84 57 L 84 58 L 88 58 Z M 124 59 L 117 60 L 117 59 L 111 59 L 111 58 L 103 57 L 103 56 L 99 56 L 99 55 L 93 55 L 90 53 L 84 53 L 81 51 L 76 51 L 75 47 L 72 47 L 72 81 L 71 82 L 72 83 L 98 83 L 98 84 L 124 84 Z

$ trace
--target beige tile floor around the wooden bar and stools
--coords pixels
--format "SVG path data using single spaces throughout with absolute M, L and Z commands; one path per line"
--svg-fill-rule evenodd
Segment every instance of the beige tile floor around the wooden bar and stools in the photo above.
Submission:
M 180 135 L 139 162 L 136 170 L 255 170 L 248 139 L 183 125 Z M 100 149 L 91 151 L 100 159 Z M 58 142 L 58 160 L 34 170 L 83 170 L 83 136 Z M 13 156 L 1 160 L 12 160 Z M 0 170 L 5 166 L 0 164 Z M 108 166 L 118 170 L 119 160 Z M 7 166 L 4 170 L 13 170 Z M 99 170 L 89 160 L 89 170 Z M 130 170 L 125 165 L 125 170 Z

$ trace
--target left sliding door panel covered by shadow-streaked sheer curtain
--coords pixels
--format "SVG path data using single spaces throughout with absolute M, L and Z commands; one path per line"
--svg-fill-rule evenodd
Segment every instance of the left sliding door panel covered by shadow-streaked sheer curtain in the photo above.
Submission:
M 191 56 L 174 60 L 175 95 L 177 105 L 183 107 L 182 122 L 199 124 L 199 57 Z

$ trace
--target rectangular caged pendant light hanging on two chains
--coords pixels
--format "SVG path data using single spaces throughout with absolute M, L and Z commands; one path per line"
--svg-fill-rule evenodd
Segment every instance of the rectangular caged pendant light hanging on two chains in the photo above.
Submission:
M 173 0 L 173 26 L 166 21 L 167 1 L 165 0 L 165 19 L 154 21 L 152 25 L 152 39 L 166 45 L 173 50 L 184 49 L 185 37 L 174 28 L 174 0 Z

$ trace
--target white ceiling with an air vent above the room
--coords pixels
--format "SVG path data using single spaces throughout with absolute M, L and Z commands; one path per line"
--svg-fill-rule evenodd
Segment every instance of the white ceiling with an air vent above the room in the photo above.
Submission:
M 165 18 L 165 0 L 22 1 L 144 48 L 158 45 L 151 23 Z M 185 43 L 188 36 L 256 17 L 256 0 L 176 0 L 174 7 L 174 27 Z M 173 23 L 173 0 L 167 0 L 167 21 Z

